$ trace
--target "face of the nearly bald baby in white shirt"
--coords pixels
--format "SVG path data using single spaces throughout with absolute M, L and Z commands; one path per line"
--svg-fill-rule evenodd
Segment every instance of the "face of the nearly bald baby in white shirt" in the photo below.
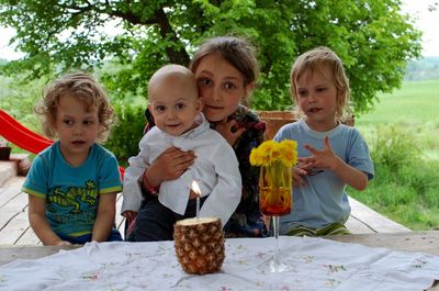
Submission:
M 149 91 L 148 107 L 158 128 L 179 136 L 196 126 L 194 120 L 203 101 L 184 79 L 167 78 Z

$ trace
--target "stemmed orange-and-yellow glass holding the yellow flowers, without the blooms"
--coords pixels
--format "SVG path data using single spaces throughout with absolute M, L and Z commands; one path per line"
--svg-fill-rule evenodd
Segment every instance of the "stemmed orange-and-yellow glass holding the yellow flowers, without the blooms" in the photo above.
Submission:
M 291 212 L 292 171 L 281 164 L 261 168 L 259 179 L 260 210 L 272 219 L 275 239 L 274 255 L 262 265 L 270 272 L 284 272 L 291 267 L 282 262 L 279 247 L 279 217 Z

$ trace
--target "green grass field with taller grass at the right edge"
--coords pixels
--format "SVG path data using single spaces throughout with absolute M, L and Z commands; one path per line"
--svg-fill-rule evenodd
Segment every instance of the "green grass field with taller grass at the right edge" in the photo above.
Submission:
M 439 80 L 405 82 L 356 119 L 375 165 L 349 194 L 413 230 L 439 227 Z

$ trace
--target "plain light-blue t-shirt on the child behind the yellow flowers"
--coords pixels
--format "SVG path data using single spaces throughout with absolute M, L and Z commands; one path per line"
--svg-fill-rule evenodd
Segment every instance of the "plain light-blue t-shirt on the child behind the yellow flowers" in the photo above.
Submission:
M 368 145 L 354 127 L 338 124 L 328 132 L 316 132 L 302 119 L 281 127 L 274 139 L 296 141 L 297 156 L 308 157 L 312 154 L 303 145 L 308 144 L 322 149 L 326 136 L 329 137 L 335 155 L 351 167 L 365 172 L 369 180 L 373 178 L 374 169 Z M 292 211 L 280 217 L 280 233 L 286 234 L 300 225 L 320 228 L 333 223 L 345 223 L 350 214 L 345 182 L 330 170 L 306 176 L 304 179 L 307 183 L 305 187 L 293 184 Z

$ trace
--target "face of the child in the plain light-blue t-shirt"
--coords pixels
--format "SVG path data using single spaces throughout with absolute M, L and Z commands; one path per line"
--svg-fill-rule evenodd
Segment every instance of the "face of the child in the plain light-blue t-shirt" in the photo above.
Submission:
M 338 92 L 330 70 L 306 71 L 297 78 L 295 86 L 296 102 L 305 113 L 306 122 L 318 131 L 334 127 Z

